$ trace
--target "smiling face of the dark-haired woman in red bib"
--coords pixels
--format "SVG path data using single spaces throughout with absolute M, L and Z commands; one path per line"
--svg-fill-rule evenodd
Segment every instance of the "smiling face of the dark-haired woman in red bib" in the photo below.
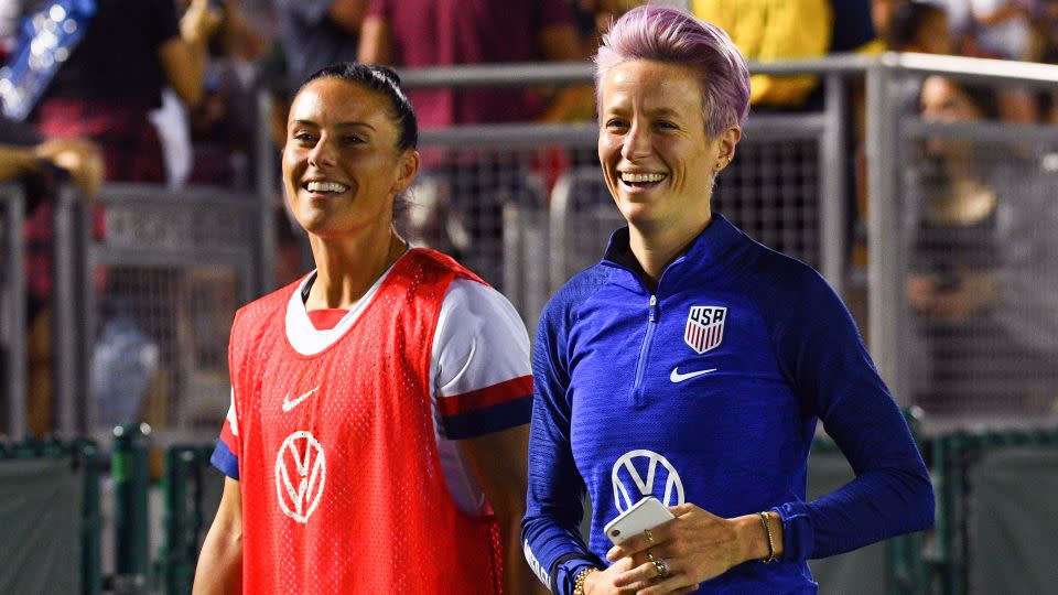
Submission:
M 287 199 L 298 223 L 323 238 L 388 229 L 393 196 L 419 169 L 381 93 L 320 78 L 294 98 L 283 147 Z

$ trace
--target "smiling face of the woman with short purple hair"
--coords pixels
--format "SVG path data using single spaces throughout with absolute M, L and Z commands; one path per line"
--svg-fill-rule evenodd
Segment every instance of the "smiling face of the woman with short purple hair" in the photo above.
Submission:
M 702 89 L 685 66 L 626 62 L 600 86 L 598 159 L 622 215 L 648 234 L 700 230 L 710 219 L 713 178 L 734 155 L 739 129 L 705 134 Z

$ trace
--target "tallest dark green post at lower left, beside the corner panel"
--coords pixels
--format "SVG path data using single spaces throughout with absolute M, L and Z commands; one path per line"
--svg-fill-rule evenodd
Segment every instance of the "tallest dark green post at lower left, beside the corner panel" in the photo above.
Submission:
M 145 593 L 149 586 L 148 452 L 151 426 L 127 423 L 114 429 L 115 575 L 117 594 Z

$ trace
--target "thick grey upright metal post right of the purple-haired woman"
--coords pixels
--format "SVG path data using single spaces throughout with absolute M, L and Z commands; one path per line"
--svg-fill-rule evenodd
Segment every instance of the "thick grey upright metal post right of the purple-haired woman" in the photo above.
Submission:
M 900 234 L 899 110 L 894 97 L 896 60 L 886 54 L 867 69 L 867 322 L 871 356 L 900 405 L 907 405 L 900 369 L 899 318 L 904 312 Z

